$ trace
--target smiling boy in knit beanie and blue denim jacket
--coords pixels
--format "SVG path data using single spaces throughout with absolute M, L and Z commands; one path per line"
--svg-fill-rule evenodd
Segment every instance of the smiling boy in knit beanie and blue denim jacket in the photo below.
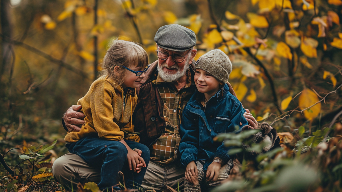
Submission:
M 232 147 L 213 141 L 220 133 L 240 132 L 248 125 L 245 109 L 226 85 L 231 72 L 231 61 L 218 49 L 202 55 L 195 64 L 197 91 L 183 110 L 180 127 L 181 163 L 186 166 L 184 192 L 198 192 L 201 184 L 219 184 L 233 166 L 227 154 Z M 206 183 L 202 183 L 204 177 Z

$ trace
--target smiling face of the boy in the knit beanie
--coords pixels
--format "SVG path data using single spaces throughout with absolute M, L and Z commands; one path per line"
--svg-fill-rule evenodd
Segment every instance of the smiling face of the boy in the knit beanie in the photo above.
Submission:
M 199 92 L 211 96 L 220 89 L 220 84 L 223 85 L 221 81 L 202 69 L 195 69 L 194 81 Z

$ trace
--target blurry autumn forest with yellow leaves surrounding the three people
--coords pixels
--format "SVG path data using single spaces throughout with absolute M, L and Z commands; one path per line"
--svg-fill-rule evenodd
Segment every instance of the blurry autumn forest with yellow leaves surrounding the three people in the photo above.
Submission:
M 152 63 L 166 24 L 195 31 L 195 59 L 229 55 L 238 99 L 280 137 L 281 149 L 243 158 L 215 191 L 341 191 L 341 10 L 341 0 L 1 0 L 0 191 L 60 190 L 50 171 L 67 153 L 61 118 L 98 77 L 108 42 L 139 42 Z M 250 134 L 218 140 L 232 154 L 261 151 L 241 147 Z

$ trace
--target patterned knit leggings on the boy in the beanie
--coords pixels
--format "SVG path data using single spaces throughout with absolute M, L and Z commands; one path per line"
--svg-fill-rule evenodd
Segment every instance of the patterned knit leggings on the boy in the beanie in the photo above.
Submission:
M 184 192 L 200 192 L 201 191 L 201 183 L 202 181 L 205 182 L 205 174 L 203 171 L 203 164 L 204 161 L 196 161 L 197 165 L 197 171 L 198 171 L 198 183 L 197 185 L 193 185 L 189 181 L 185 179 L 185 186 L 184 186 Z M 216 185 L 219 185 L 222 180 L 227 179 L 229 177 L 229 173 L 231 172 L 231 169 L 233 168 L 233 159 L 230 159 L 227 164 L 225 164 L 223 167 L 221 167 L 219 172 L 219 177 L 216 179 L 216 181 L 210 181 L 202 183 L 203 185 L 206 185 L 206 187 L 214 187 Z

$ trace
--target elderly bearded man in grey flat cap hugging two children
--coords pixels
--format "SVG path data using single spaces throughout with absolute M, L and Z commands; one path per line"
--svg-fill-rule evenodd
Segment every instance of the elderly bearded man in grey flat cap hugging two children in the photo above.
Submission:
M 151 156 L 143 187 L 163 191 L 167 186 L 173 189 L 179 186 L 182 190 L 185 168 L 180 164 L 179 127 L 182 110 L 196 90 L 193 79 L 196 35 L 181 25 L 166 25 L 159 28 L 154 40 L 158 61 L 150 65 L 136 91 L 139 101 L 133 114 L 134 130 L 140 133 L 140 143 L 149 147 Z M 235 95 L 230 85 L 229 88 Z M 73 105 L 63 117 L 63 126 L 69 131 L 78 131 L 76 125 L 84 122 L 83 113 L 77 112 L 79 109 L 80 106 Z M 254 118 L 247 120 L 257 128 Z M 74 154 L 58 158 L 52 171 L 64 186 L 100 181 L 100 170 Z

